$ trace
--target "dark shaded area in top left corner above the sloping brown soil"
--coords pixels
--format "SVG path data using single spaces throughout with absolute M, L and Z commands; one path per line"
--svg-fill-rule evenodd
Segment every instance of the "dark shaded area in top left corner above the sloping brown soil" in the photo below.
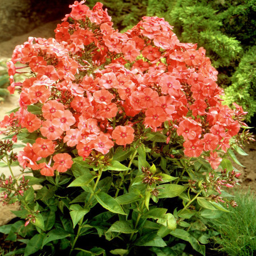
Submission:
M 0 0 L 0 42 L 64 18 L 74 0 Z

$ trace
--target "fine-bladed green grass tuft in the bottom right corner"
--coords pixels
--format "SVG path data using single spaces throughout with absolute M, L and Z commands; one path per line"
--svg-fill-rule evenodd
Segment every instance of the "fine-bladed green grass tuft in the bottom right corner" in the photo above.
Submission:
M 255 194 L 237 190 L 235 201 L 238 206 L 225 213 L 221 221 L 214 221 L 213 227 L 220 235 L 214 237 L 218 250 L 229 256 L 253 256 L 256 251 Z

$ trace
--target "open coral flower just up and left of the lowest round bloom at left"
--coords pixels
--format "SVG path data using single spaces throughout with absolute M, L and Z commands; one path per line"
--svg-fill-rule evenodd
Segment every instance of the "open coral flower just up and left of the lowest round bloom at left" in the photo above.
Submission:
M 51 140 L 45 140 L 42 138 L 38 138 L 35 140 L 35 143 L 32 145 L 33 151 L 36 155 L 40 157 L 47 157 L 54 153 L 55 145 Z

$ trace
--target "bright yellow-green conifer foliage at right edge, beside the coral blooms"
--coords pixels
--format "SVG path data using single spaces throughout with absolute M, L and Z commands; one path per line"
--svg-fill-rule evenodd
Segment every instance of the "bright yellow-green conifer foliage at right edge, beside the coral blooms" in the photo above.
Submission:
M 256 46 L 251 47 L 243 55 L 237 70 L 232 76 L 232 84 L 225 90 L 225 101 L 234 101 L 248 111 L 250 120 L 256 113 Z

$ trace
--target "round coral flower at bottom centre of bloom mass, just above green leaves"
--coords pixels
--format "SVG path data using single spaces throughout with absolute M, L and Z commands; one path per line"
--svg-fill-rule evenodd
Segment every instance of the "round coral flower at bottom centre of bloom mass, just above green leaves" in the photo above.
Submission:
M 116 140 L 117 145 L 131 144 L 134 139 L 133 133 L 134 129 L 132 127 L 119 125 L 113 130 L 112 138 Z

